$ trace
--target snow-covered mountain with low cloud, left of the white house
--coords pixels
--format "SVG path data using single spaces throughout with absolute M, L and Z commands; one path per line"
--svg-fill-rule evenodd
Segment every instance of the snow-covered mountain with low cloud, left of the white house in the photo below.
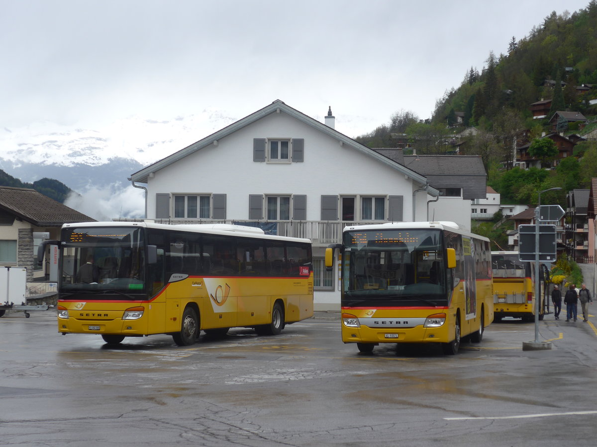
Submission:
M 97 128 L 33 123 L 0 129 L 0 169 L 23 182 L 53 178 L 78 195 L 66 204 L 98 220 L 142 217 L 128 177 L 235 122 L 216 110 L 170 120 L 130 117 Z

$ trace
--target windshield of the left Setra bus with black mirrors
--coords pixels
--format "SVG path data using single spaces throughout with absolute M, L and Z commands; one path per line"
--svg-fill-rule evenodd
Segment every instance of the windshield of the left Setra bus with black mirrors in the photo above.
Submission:
M 116 294 L 144 289 L 144 240 L 141 228 L 64 228 L 61 291 Z

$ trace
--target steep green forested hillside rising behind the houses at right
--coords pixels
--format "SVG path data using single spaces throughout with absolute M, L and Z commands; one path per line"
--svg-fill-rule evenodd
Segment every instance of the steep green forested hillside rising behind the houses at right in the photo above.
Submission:
M 597 105 L 589 101 L 597 100 L 597 0 L 572 14 L 553 12 L 527 36 L 507 39 L 508 54 L 495 55 L 488 49 L 487 65 L 480 72 L 467 69 L 461 85 L 436 103 L 431 119 L 423 121 L 401 110 L 390 117 L 389 124 L 356 140 L 369 147 L 396 147 L 399 141 L 407 141 L 405 153 L 416 148 L 419 154 L 479 155 L 488 184 L 501 194 L 503 203 L 534 206 L 537 191 L 558 186 L 564 191 L 553 200 L 564 204 L 566 191 L 588 188 L 590 179 L 597 176 L 593 142 L 577 144 L 574 157 L 554 170 L 519 169 L 512 166 L 512 159 L 514 144 L 525 142 L 521 135 L 531 143 L 552 131 L 547 119 L 533 119 L 530 110 L 542 99 L 552 100 L 547 118 L 568 110 L 589 119 L 585 129 L 578 123 L 562 123 L 560 128 L 558 123 L 564 135 L 583 135 L 596 126 L 592 123 Z M 459 135 L 470 127 L 475 135 Z

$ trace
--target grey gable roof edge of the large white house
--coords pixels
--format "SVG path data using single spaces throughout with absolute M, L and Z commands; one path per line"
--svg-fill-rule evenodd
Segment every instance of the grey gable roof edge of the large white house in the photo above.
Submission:
M 309 126 L 312 126 L 315 129 L 318 129 L 318 131 L 321 131 L 324 134 L 327 134 L 332 138 L 337 139 L 341 145 L 352 147 L 353 149 L 361 153 L 364 153 L 367 156 L 377 159 L 378 162 L 384 163 L 387 166 L 396 169 L 398 172 L 413 179 L 413 181 L 418 182 L 418 184 L 429 184 L 424 175 L 421 175 L 418 172 L 408 169 L 408 167 L 405 167 L 403 164 L 395 162 L 394 160 L 389 159 L 388 157 L 384 157 L 381 154 L 378 154 L 373 149 L 365 145 L 362 145 L 361 143 L 350 138 L 349 136 L 341 134 L 340 132 L 336 131 L 336 129 L 333 129 L 330 126 L 327 126 L 324 123 L 320 123 L 318 120 L 313 119 L 312 117 L 307 116 L 304 113 L 301 113 L 300 111 L 290 107 L 289 105 L 285 104 L 283 101 L 280 100 L 275 100 L 272 104 L 266 105 L 266 107 L 263 107 L 260 110 L 257 110 L 256 112 L 251 113 L 250 115 L 232 123 L 231 125 L 226 126 L 223 129 L 220 129 L 220 131 L 214 132 L 213 134 L 206 136 L 204 139 L 200 139 L 199 141 L 194 142 L 193 144 L 181 149 L 180 151 L 177 151 L 174 154 L 165 157 L 164 159 L 158 160 L 158 162 L 144 167 L 143 169 L 133 173 L 133 175 L 131 175 L 129 179 L 133 182 L 147 183 L 147 179 L 149 178 L 150 174 L 160 169 L 163 169 L 164 167 L 167 167 L 170 164 L 179 162 L 179 160 L 184 159 L 184 157 L 192 153 L 195 153 L 196 151 L 199 151 L 204 147 L 212 145 L 214 141 L 218 141 L 219 139 L 224 138 L 225 136 L 230 135 L 233 132 L 236 132 L 239 129 L 242 129 L 245 126 L 248 126 L 251 123 L 254 123 L 257 120 L 272 113 L 287 113 L 288 115 L 296 118 L 297 120 Z M 427 190 L 427 193 L 433 196 L 439 195 L 439 191 L 435 190 L 435 188 L 433 187 Z

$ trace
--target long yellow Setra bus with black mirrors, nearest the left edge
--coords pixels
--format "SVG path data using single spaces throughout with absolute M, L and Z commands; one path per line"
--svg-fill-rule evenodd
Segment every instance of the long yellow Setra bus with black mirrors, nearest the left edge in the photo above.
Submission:
M 238 225 L 132 222 L 65 224 L 59 246 L 58 331 L 125 337 L 170 334 L 179 346 L 199 331 L 231 327 L 279 334 L 313 315 L 308 239 Z

